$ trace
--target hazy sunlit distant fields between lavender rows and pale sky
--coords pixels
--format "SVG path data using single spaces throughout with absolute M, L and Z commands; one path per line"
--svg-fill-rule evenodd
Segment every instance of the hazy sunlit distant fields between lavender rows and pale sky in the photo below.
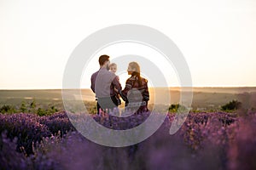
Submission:
M 153 88 L 150 91 L 149 103 L 154 103 Z M 171 104 L 179 102 L 179 88 L 169 88 L 171 94 Z M 158 95 L 166 95 L 166 89 L 158 88 Z M 84 101 L 95 102 L 95 94 L 90 89 L 82 89 Z M 74 96 L 75 98 L 77 96 Z M 43 90 L 0 90 L 0 106 L 20 105 L 22 101 L 32 101 L 35 99 L 40 105 L 55 105 L 63 109 L 61 89 Z M 208 110 L 219 108 L 220 105 L 228 103 L 232 99 L 240 100 L 246 107 L 255 108 L 256 88 L 193 88 L 192 107 L 198 110 Z

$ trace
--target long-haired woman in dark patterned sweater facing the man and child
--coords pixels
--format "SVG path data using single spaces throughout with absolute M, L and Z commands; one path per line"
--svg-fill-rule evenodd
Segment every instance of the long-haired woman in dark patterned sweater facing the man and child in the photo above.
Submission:
M 125 109 L 148 111 L 148 80 L 141 77 L 140 65 L 137 62 L 129 63 L 127 71 L 131 77 L 126 80 L 125 89 L 119 91 L 125 101 Z

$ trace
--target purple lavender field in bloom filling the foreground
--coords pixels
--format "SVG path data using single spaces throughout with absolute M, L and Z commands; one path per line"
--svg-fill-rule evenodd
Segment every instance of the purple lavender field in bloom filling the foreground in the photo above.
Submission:
M 148 114 L 94 119 L 122 130 L 136 127 Z M 256 113 L 189 113 L 171 136 L 174 116 L 168 114 L 142 143 L 112 148 L 85 139 L 64 111 L 0 114 L 0 169 L 256 169 Z

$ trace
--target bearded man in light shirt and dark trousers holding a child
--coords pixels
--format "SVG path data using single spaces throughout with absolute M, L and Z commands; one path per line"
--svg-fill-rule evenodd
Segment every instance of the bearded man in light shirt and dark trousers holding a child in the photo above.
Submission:
M 118 106 L 118 100 L 115 98 L 114 88 L 121 90 L 121 84 L 118 77 L 109 71 L 109 56 L 101 55 L 99 58 L 100 70 L 93 73 L 90 77 L 91 90 L 96 94 L 97 114 L 99 110 L 113 110 Z

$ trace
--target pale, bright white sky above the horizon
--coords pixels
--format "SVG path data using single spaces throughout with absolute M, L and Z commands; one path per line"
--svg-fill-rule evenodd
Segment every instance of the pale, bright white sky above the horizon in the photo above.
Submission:
M 253 0 L 0 0 L 0 89 L 62 88 L 67 60 L 79 42 L 119 24 L 150 26 L 171 38 L 189 65 L 194 87 L 256 86 Z M 90 87 L 99 54 L 108 52 L 113 59 L 121 49 L 141 54 L 131 46 L 95 55 L 81 77 L 81 88 Z M 168 86 L 180 85 L 172 67 L 163 72 L 168 73 Z M 126 73 L 119 76 L 124 83 Z

